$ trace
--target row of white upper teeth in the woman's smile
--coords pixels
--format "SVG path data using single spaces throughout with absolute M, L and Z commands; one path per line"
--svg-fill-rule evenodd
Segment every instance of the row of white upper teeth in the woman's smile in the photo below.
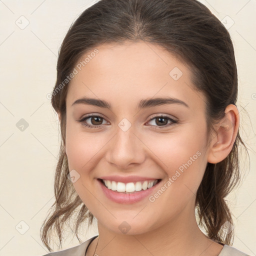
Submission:
M 150 180 L 150 181 L 137 181 L 137 182 L 129 182 L 129 183 L 123 183 L 123 182 L 115 182 L 111 180 L 104 180 L 103 182 L 105 186 L 108 189 L 111 189 L 113 191 L 117 192 L 134 192 L 134 191 L 141 191 L 146 190 L 153 185 L 157 183 L 157 179 L 155 180 Z

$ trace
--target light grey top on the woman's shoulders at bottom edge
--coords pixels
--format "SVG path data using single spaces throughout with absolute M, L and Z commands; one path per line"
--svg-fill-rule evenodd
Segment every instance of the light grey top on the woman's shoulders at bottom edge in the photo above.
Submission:
M 89 238 L 88 240 L 82 242 L 79 245 L 76 245 L 74 247 L 70 247 L 68 249 L 64 249 L 64 250 L 59 250 L 59 251 L 55 251 L 55 252 L 50 252 L 48 254 L 44 254 L 42 256 L 84 256 L 87 248 L 89 246 L 89 244 L 92 242 L 93 239 L 95 239 L 98 235 L 95 235 L 91 238 Z M 243 252 L 241 252 L 240 250 L 231 247 L 227 244 L 224 244 L 222 250 L 220 251 L 220 253 L 218 254 L 218 256 L 249 256 Z

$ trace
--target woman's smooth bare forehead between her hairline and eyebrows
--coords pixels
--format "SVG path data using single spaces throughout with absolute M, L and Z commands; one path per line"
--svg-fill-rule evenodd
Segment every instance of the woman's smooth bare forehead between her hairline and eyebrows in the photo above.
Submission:
M 114 102 L 135 104 L 138 99 L 166 95 L 189 104 L 192 96 L 198 97 L 190 69 L 156 44 L 142 41 L 101 44 L 87 51 L 77 64 L 78 72 L 68 85 L 67 105 L 81 96 L 107 98 L 113 101 L 113 106 Z

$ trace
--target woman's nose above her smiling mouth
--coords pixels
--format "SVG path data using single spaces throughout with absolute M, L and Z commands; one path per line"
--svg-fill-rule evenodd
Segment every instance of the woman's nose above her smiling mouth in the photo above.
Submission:
M 145 144 L 131 126 L 126 131 L 117 126 L 116 134 L 109 141 L 106 160 L 117 169 L 128 169 L 145 159 Z

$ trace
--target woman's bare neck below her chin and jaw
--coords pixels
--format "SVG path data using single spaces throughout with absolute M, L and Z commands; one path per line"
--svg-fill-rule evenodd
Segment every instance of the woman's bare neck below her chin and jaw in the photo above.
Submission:
M 210 240 L 201 232 L 191 206 L 187 205 L 182 212 L 176 214 L 176 218 L 157 228 L 150 228 L 151 223 L 148 223 L 150 230 L 143 233 L 120 234 L 98 222 L 99 236 L 93 240 L 86 255 L 93 255 L 98 242 L 95 253 L 100 256 L 217 256 L 223 245 Z

